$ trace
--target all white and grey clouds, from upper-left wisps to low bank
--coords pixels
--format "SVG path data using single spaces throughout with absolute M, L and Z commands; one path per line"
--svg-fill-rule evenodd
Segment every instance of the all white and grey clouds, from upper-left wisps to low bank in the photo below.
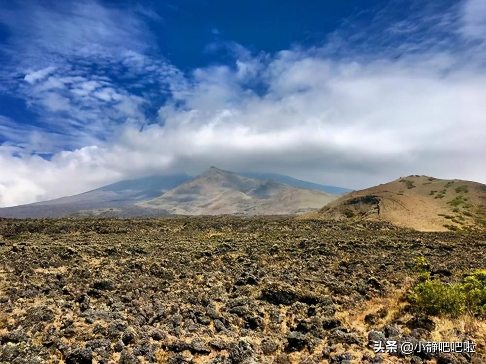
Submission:
M 0 118 L 0 206 L 209 165 L 356 189 L 409 174 L 486 182 L 482 2 L 459 5 L 432 20 L 383 24 L 372 51 L 361 39 L 378 30 L 362 26 L 353 38 L 343 25 L 320 45 L 276 54 L 221 42 L 232 63 L 187 72 L 150 55 L 142 15 L 91 2 L 71 15 L 63 37 L 72 39 L 51 50 L 68 22 L 51 9 L 45 18 L 55 29 L 28 36 L 55 61 L 34 67 L 32 55 L 11 54 L 26 55 L 8 70 L 22 79 L 12 90 L 45 117 L 21 135 L 15 120 Z M 101 30 L 83 33 L 95 20 Z M 127 42 L 130 26 L 137 31 Z M 407 35 L 397 40 L 397 32 Z

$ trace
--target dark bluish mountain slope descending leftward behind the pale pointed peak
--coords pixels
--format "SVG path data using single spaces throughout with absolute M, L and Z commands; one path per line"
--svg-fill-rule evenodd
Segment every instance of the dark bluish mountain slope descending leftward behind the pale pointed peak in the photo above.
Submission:
M 105 212 L 106 214 L 111 211 L 121 214 L 121 211 L 126 211 L 126 206 L 133 202 L 160 196 L 190 179 L 191 177 L 187 174 L 176 174 L 124 180 L 78 195 L 0 208 L 0 217 L 62 217 L 79 214 L 80 211 Z M 134 209 L 131 210 L 128 215 L 135 213 Z M 143 211 L 138 212 L 143 213 Z

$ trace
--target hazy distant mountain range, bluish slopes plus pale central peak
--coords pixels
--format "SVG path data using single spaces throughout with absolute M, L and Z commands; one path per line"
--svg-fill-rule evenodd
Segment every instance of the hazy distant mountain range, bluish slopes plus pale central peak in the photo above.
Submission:
M 275 176 L 290 183 L 243 177 L 211 167 L 193 180 L 187 174 L 125 180 L 73 196 L 1 208 L 0 216 L 284 214 L 317 209 L 337 198 L 323 190 L 346 190 L 283 175 Z M 184 182 L 190 183 L 192 189 L 188 189 Z M 292 185 L 312 186 L 315 190 L 294 188 Z M 209 196 L 212 197 L 210 201 Z

